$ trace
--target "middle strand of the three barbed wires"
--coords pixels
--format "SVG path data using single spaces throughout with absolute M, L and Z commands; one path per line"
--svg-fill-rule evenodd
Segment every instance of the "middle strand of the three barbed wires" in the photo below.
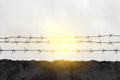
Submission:
M 47 40 L 47 41 L 40 41 L 40 40 L 37 40 L 37 41 L 29 41 L 29 40 L 22 40 L 22 41 L 16 41 L 16 40 L 12 40 L 12 41 L 0 41 L 0 43 L 15 43 L 15 44 L 20 44 L 20 43 L 23 43 L 23 44 L 64 44 L 64 43 L 68 43 L 68 44 L 80 44 L 80 43 L 90 43 L 90 44 L 100 44 L 100 45 L 103 45 L 103 44 L 108 44 L 108 45 L 113 45 L 113 44 L 120 44 L 120 41 L 93 41 L 93 40 L 77 40 L 77 41 L 50 41 L 50 40 Z

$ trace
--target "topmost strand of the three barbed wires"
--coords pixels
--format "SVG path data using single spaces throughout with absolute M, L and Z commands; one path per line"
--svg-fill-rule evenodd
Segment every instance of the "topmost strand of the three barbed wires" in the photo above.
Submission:
M 112 37 L 118 37 L 120 38 L 120 35 L 114 35 L 114 34 L 109 34 L 109 35 L 101 35 L 101 34 L 98 34 L 98 35 L 93 35 L 93 36 L 90 36 L 90 35 L 87 35 L 87 36 L 79 36 L 79 35 L 75 35 L 75 36 L 67 36 L 67 35 L 63 35 L 63 36 L 10 36 L 10 37 L 0 37 L 0 39 L 46 39 L 46 38 L 103 38 L 103 37 L 109 37 L 109 38 L 112 38 Z

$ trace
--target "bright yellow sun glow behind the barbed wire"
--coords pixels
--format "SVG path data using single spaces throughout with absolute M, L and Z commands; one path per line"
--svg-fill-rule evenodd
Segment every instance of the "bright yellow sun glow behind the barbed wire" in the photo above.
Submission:
M 67 25 L 60 25 L 55 23 L 49 23 L 46 25 L 45 32 L 49 36 L 49 47 L 52 53 L 60 54 L 59 58 L 67 59 L 70 54 L 73 53 L 77 44 L 74 43 L 76 39 L 70 32 Z

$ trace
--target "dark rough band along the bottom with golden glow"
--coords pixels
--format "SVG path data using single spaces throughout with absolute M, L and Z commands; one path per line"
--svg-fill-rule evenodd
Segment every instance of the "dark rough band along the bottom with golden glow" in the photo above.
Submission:
M 120 62 L 0 60 L 0 80 L 120 80 Z

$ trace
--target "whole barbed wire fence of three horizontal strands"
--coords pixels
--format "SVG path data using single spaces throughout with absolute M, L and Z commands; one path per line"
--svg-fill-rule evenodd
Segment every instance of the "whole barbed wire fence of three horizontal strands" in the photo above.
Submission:
M 117 39 L 117 41 L 112 41 L 111 39 L 112 38 L 120 38 L 120 35 L 114 35 L 114 34 L 109 34 L 109 35 L 93 35 L 93 36 L 90 36 L 90 35 L 87 35 L 87 36 L 67 36 L 67 35 L 64 35 L 64 36 L 20 36 L 20 35 L 17 35 L 17 36 L 9 36 L 9 37 L 0 37 L 0 44 L 28 44 L 28 45 L 31 45 L 31 44 L 40 44 L 40 45 L 44 45 L 44 44 L 49 44 L 49 45 L 52 45 L 52 44 L 56 44 L 58 47 L 59 45 L 58 44 L 82 44 L 82 43 L 88 43 L 90 45 L 93 45 L 93 44 L 96 44 L 96 45 L 114 45 L 114 44 L 120 44 L 120 40 Z M 96 40 L 97 38 L 97 40 Z M 109 38 L 110 40 L 105 40 L 103 41 L 101 38 Z M 54 40 L 56 39 L 56 40 Z M 62 39 L 62 41 L 60 40 Z M 67 39 L 67 40 L 66 40 Z M 71 40 L 71 39 L 75 39 L 75 40 Z M 83 40 L 84 39 L 84 40 Z M 2 49 L 0 48 L 0 53 L 2 52 L 12 52 L 12 53 L 15 53 L 15 52 L 38 52 L 38 53 L 44 53 L 44 52 L 50 52 L 50 53 L 56 53 L 56 52 L 61 52 L 61 53 L 82 53 L 82 52 L 88 52 L 88 53 L 93 53 L 93 52 L 101 52 L 101 53 L 104 53 L 104 52 L 115 52 L 115 53 L 118 53 L 120 52 L 120 49 L 118 48 L 115 48 L 115 49 L 75 49 L 75 50 L 71 50 L 71 49 L 66 49 L 66 48 L 63 48 L 63 49 L 49 49 L 49 50 L 44 50 L 44 49 L 28 49 L 28 48 L 23 48 L 23 49 Z

